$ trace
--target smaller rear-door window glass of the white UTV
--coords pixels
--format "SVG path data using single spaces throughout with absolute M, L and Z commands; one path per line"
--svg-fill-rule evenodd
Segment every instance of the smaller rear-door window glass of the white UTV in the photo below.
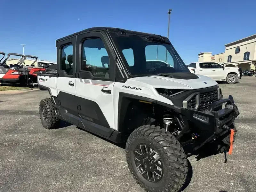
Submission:
M 65 70 L 68 75 L 73 75 L 73 45 L 64 45 L 61 48 L 60 70 Z

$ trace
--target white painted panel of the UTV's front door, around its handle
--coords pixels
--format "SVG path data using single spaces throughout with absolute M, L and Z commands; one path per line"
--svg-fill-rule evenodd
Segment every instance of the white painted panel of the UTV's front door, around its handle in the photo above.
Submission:
M 76 78 L 76 95 L 78 97 L 96 102 L 109 126 L 115 129 L 113 87 L 115 82 L 99 81 Z M 111 94 L 102 92 L 101 89 L 110 90 Z

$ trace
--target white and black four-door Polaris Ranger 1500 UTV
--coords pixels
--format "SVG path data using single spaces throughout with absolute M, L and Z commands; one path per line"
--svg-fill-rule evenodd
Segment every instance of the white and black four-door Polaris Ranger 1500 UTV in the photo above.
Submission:
M 231 152 L 239 115 L 232 96 L 223 99 L 213 79 L 190 73 L 168 38 L 97 27 L 58 39 L 56 47 L 57 73 L 37 75 L 51 96 L 39 104 L 43 126 L 54 129 L 62 119 L 126 141 L 128 167 L 146 191 L 180 190 L 185 145 Z M 155 58 L 168 65 L 148 62 Z

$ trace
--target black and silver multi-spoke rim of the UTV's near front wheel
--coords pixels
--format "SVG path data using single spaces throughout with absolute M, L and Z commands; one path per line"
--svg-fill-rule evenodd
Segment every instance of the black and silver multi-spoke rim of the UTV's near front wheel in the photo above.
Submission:
M 163 176 L 163 163 L 155 149 L 148 144 L 140 144 L 134 152 L 135 164 L 140 174 L 148 181 L 159 181 Z

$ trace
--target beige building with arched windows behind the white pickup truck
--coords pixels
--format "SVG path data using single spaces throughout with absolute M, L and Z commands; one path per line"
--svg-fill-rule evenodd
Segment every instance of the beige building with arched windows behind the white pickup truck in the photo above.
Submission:
M 229 67 L 242 70 L 255 69 L 256 66 L 256 34 L 225 45 L 225 52 L 212 55 L 212 52 L 198 54 L 198 61 L 223 63 Z

